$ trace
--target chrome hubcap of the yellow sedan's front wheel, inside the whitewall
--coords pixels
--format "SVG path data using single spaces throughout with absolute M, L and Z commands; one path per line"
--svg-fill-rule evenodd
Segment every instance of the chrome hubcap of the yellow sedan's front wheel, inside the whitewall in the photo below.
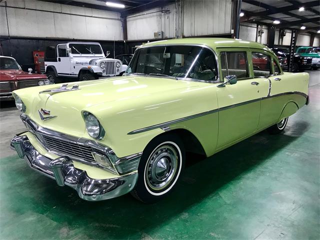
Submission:
M 145 171 L 148 186 L 161 190 L 174 179 L 178 165 L 178 154 L 174 147 L 162 145 L 150 155 Z

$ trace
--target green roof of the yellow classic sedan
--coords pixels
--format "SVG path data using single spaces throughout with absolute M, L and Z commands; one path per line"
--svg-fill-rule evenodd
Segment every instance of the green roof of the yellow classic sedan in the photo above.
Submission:
M 192 38 L 177 38 L 177 39 L 167 39 L 160 41 L 153 41 L 144 43 L 141 46 L 154 46 L 154 45 L 166 45 L 166 44 L 196 44 L 196 45 L 206 45 L 212 49 L 219 47 L 245 47 L 245 48 L 258 48 L 264 49 L 272 52 L 272 50 L 255 41 L 247 41 L 236 38 L 221 38 L 221 37 L 192 37 Z

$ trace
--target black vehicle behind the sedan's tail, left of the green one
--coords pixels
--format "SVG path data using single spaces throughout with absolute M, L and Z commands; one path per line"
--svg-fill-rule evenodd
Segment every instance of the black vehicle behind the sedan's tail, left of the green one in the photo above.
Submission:
M 287 48 L 281 48 L 281 47 L 274 47 L 272 48 L 273 52 L 275 55 L 279 58 L 286 58 L 286 64 L 282 65 L 282 69 L 287 70 L 287 62 L 289 61 L 289 50 Z M 311 62 L 312 62 L 312 57 L 309 56 L 301 56 L 299 53 L 294 53 L 293 54 L 293 62 L 292 62 L 292 71 L 302 71 L 305 69 L 310 69 L 311 68 Z

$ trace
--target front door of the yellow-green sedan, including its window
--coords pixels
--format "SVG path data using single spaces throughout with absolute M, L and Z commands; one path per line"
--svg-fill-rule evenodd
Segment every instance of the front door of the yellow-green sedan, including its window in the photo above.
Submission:
M 259 114 L 259 84 L 252 83 L 245 49 L 219 51 L 222 79 L 236 75 L 235 84 L 218 87 L 219 132 L 217 149 L 256 131 Z

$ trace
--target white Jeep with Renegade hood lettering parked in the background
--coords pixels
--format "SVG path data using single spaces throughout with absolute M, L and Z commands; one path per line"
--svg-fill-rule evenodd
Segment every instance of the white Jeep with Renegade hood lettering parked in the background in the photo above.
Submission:
M 127 65 L 106 57 L 98 42 L 70 41 L 48 46 L 44 59 L 45 73 L 56 83 L 60 82 L 60 77 L 82 81 L 123 74 Z

